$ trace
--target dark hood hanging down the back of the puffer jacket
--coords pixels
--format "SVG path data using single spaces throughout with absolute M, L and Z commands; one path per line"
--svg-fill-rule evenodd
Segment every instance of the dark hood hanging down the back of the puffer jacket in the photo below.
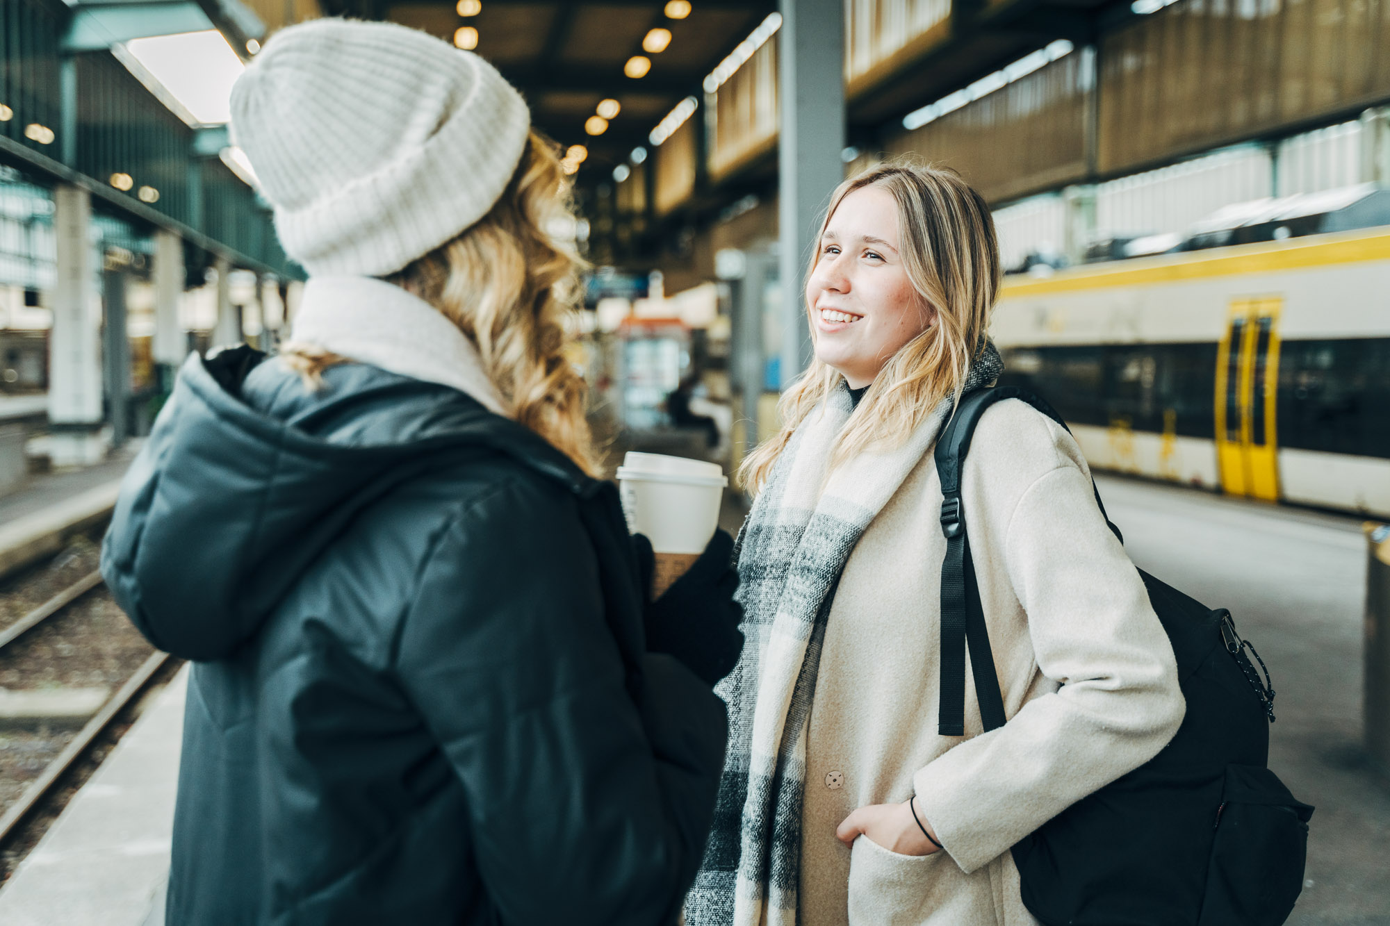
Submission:
M 101 548 L 117 602 L 174 655 L 229 655 L 359 512 L 450 459 L 500 453 L 580 495 L 600 485 L 457 389 L 342 364 L 307 392 L 264 357 L 188 359 Z

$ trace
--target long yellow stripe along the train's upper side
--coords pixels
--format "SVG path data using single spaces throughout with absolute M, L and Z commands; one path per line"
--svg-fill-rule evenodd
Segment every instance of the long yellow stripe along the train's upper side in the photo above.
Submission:
M 1291 238 L 1282 242 L 1233 245 L 1188 254 L 1163 254 L 1108 263 L 1099 267 L 1076 267 L 1052 277 L 1009 277 L 1001 296 L 1038 296 L 1049 292 L 1106 289 L 1150 284 L 1184 282 L 1211 277 L 1268 274 L 1307 267 L 1354 264 L 1390 260 L 1390 232 L 1377 228 Z M 1116 266 L 1120 264 L 1120 266 Z

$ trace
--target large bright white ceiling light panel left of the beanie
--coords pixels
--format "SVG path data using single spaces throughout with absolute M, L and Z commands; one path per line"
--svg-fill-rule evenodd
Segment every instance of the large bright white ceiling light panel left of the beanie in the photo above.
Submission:
M 232 83 L 246 65 L 217 29 L 133 39 L 125 51 L 147 78 L 168 90 L 197 125 L 221 125 L 232 117 Z M 120 56 L 118 56 L 120 57 Z M 139 72 L 135 76 L 142 76 Z

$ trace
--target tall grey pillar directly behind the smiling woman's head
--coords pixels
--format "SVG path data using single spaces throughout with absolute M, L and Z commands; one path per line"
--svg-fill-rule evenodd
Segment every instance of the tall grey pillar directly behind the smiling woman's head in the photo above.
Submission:
M 845 178 L 844 0 L 780 0 L 777 92 L 778 228 L 781 229 L 781 385 L 812 359 L 806 267 L 830 193 Z

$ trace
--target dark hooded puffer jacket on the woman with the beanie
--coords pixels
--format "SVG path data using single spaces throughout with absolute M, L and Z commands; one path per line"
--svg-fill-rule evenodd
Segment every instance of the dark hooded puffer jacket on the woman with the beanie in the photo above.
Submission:
M 723 702 L 645 652 L 607 482 L 455 389 L 190 357 L 101 556 L 197 660 L 168 922 L 669 922 Z

